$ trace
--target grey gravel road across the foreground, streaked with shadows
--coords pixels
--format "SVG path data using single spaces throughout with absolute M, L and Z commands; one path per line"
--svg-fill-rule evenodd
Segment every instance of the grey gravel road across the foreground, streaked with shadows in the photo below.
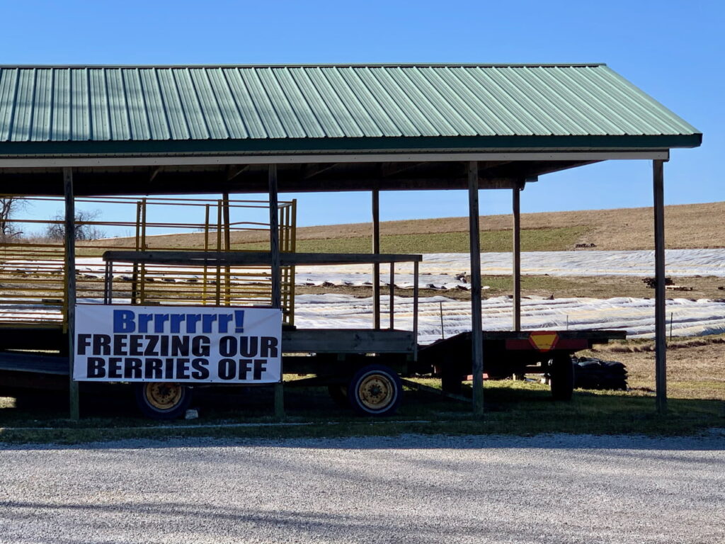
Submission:
M 0 445 L 0 543 L 723 543 L 725 434 Z

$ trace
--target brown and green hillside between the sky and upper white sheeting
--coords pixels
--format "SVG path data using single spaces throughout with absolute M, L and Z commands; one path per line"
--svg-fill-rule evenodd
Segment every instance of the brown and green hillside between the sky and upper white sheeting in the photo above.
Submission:
M 670 249 L 725 247 L 725 202 L 667 206 L 666 243 Z M 509 251 L 511 215 L 481 216 L 481 250 Z M 648 250 L 654 247 L 650 207 L 521 215 L 522 250 L 572 250 L 595 244 L 597 250 Z M 370 223 L 297 229 L 298 251 L 368 252 Z M 381 223 L 384 252 L 468 252 L 468 218 L 436 218 Z M 128 245 L 115 239 L 118 246 Z M 151 247 L 202 247 L 201 233 L 153 236 Z M 254 243 L 260 242 L 260 243 Z M 263 249 L 265 234 L 237 232 L 233 247 Z

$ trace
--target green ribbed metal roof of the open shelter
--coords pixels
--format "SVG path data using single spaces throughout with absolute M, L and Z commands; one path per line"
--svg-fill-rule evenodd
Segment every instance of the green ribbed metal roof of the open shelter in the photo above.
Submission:
M 694 147 L 605 65 L 0 66 L 0 154 Z

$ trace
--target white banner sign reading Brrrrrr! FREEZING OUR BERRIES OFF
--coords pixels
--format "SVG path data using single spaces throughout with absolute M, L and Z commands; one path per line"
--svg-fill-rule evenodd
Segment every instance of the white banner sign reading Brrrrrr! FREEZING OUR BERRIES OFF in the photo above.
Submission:
M 281 336 L 272 308 L 76 305 L 73 379 L 280 382 Z

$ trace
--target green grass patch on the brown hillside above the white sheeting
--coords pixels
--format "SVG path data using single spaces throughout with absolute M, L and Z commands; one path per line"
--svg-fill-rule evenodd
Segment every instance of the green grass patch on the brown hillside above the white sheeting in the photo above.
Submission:
M 521 231 L 522 251 L 572 250 L 579 237 L 587 231 L 583 226 L 536 228 Z M 508 252 L 512 247 L 511 231 L 481 231 L 481 251 Z M 370 237 L 297 240 L 302 253 L 370 253 Z M 236 244 L 235 250 L 268 250 L 264 242 Z M 384 253 L 468 253 L 468 233 L 392 234 L 380 238 Z

